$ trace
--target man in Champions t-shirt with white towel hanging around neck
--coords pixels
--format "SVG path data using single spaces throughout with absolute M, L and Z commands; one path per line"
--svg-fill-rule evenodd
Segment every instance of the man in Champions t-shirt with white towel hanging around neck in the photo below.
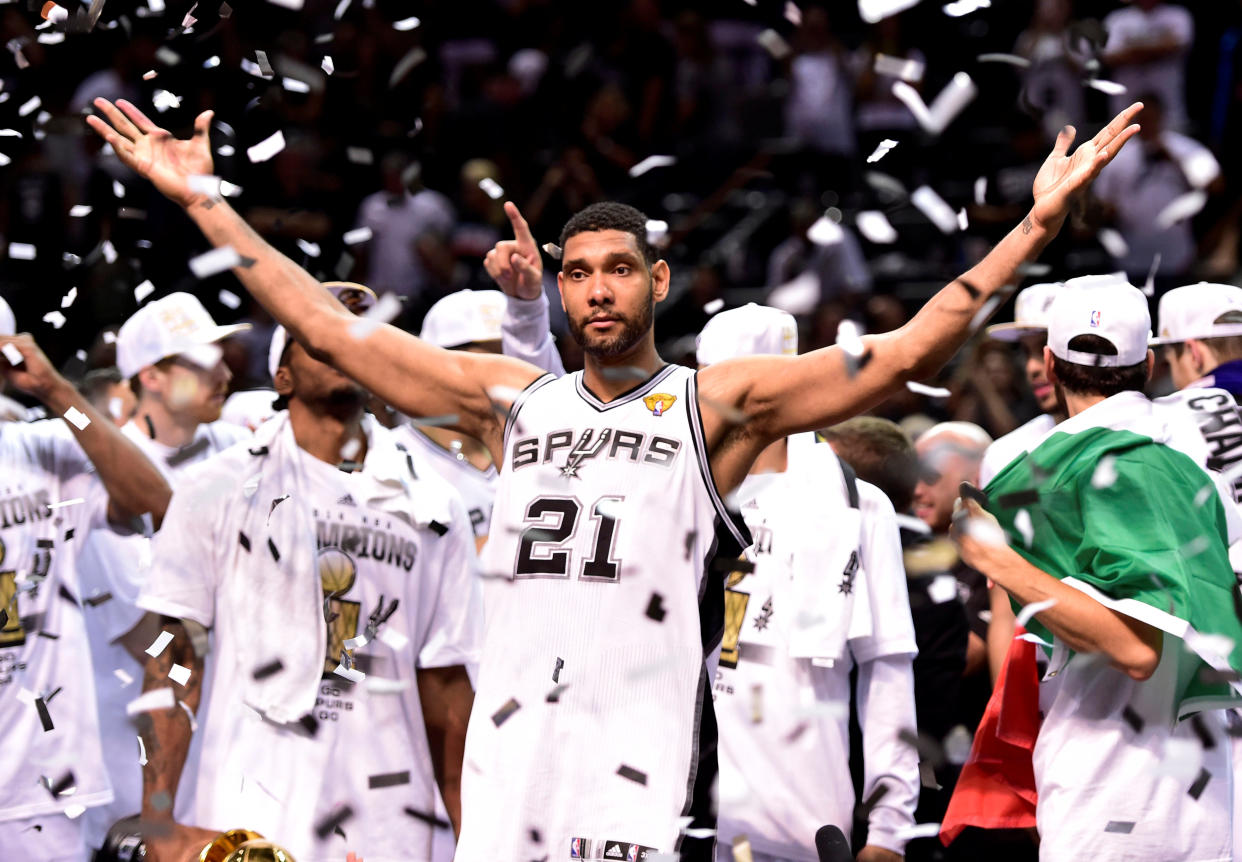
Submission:
M 139 595 L 175 633 L 145 688 L 168 686 L 155 668 L 175 662 L 190 668 L 179 699 L 205 694 L 180 792 L 190 723 L 155 725 L 144 817 L 166 819 L 156 797 L 175 794 L 179 822 L 245 826 L 302 862 L 421 862 L 436 784 L 460 821 L 465 665 L 482 621 L 469 519 L 364 416 L 360 386 L 283 329 L 273 342 L 288 411 L 180 477 Z M 176 619 L 212 632 L 206 682 Z M 299 699 L 309 718 L 278 714 Z M 152 840 L 160 858 L 204 843 L 173 835 Z

